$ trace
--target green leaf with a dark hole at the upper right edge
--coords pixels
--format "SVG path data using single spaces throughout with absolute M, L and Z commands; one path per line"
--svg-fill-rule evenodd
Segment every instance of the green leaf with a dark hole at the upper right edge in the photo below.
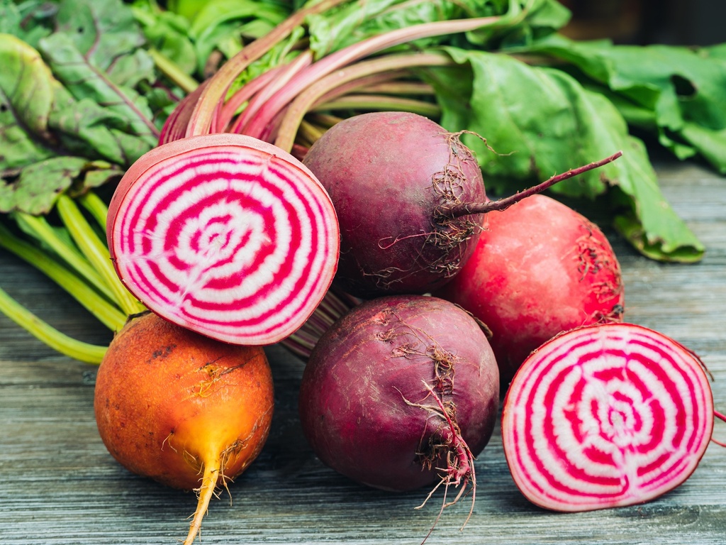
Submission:
M 722 174 L 726 174 L 725 51 L 726 47 L 579 42 L 563 36 L 552 36 L 530 49 L 566 60 L 587 78 L 652 111 L 653 132 L 661 145 L 679 158 L 700 154 Z M 629 111 L 624 110 L 624 115 Z

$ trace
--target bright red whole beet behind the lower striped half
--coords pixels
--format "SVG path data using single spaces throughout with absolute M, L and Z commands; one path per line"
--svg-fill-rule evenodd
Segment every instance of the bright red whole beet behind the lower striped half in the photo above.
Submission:
M 502 390 L 540 344 L 571 328 L 619 321 L 624 305 L 608 239 L 582 214 L 544 195 L 486 214 L 473 256 L 436 295 L 492 331 Z

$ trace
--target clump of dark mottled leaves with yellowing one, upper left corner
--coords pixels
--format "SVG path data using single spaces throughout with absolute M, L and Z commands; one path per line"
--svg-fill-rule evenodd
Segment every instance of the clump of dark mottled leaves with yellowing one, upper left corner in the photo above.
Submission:
M 46 214 L 61 193 L 104 184 L 156 145 L 158 111 L 144 95 L 158 73 L 120 0 L 1 9 L 0 211 Z

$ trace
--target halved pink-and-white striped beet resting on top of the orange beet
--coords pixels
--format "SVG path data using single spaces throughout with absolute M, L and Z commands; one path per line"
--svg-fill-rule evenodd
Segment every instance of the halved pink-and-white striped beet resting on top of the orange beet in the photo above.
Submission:
M 234 344 L 293 334 L 338 265 L 325 188 L 289 153 L 241 134 L 142 156 L 113 195 L 107 238 L 119 277 L 150 310 Z

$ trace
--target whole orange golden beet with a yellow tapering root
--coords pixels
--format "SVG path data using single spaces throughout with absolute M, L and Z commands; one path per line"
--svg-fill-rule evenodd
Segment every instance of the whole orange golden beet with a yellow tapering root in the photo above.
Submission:
M 118 332 L 96 377 L 94 414 L 109 453 L 137 475 L 197 491 L 184 545 L 216 491 L 262 450 L 273 411 L 261 347 L 220 342 L 151 312 Z

